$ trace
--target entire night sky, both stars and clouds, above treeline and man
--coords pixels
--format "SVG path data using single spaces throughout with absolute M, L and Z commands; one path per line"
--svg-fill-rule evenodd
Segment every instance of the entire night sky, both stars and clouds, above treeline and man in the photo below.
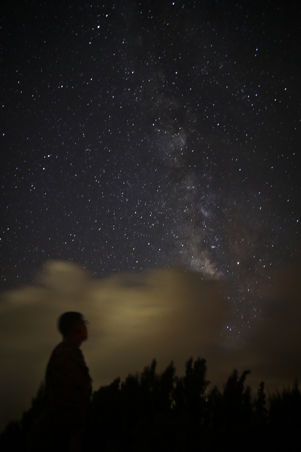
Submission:
M 191 355 L 300 378 L 298 3 L 4 3 L 0 428 L 70 309 L 94 389 Z

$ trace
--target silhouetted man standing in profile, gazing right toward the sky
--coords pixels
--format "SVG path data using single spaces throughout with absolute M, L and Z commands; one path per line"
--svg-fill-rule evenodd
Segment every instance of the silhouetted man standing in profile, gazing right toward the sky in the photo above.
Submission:
M 63 340 L 51 353 L 46 367 L 45 408 L 38 420 L 29 451 L 81 451 L 85 418 L 92 392 L 88 367 L 79 349 L 88 338 L 87 322 L 79 312 L 60 315 Z

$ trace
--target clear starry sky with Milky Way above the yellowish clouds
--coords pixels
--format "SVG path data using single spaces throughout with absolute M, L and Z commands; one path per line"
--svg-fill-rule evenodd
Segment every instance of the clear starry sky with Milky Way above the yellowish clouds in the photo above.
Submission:
M 95 277 L 225 282 L 300 264 L 301 8 L 282 1 L 9 2 L 1 14 L 1 288 L 47 259 Z M 231 333 L 230 333 L 231 328 Z

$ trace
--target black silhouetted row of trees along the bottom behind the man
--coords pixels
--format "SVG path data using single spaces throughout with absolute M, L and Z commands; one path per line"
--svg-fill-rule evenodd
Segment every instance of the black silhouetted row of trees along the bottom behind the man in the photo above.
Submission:
M 292 388 L 267 397 L 261 382 L 254 399 L 234 370 L 223 390 L 208 389 L 206 361 L 190 358 L 184 377 L 171 364 L 156 372 L 156 361 L 139 375 L 120 378 L 93 393 L 84 451 L 260 451 L 293 450 L 301 436 L 301 394 Z M 268 402 L 268 403 L 266 403 Z M 42 413 L 44 386 L 21 421 L 0 437 L 1 451 L 26 450 L 26 437 Z

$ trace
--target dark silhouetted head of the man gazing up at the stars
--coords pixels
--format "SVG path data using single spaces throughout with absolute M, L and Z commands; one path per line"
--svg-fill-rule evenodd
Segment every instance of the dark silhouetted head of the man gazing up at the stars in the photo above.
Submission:
M 60 315 L 58 329 L 64 338 L 70 338 L 81 344 L 88 338 L 86 321 L 80 312 L 68 311 Z

